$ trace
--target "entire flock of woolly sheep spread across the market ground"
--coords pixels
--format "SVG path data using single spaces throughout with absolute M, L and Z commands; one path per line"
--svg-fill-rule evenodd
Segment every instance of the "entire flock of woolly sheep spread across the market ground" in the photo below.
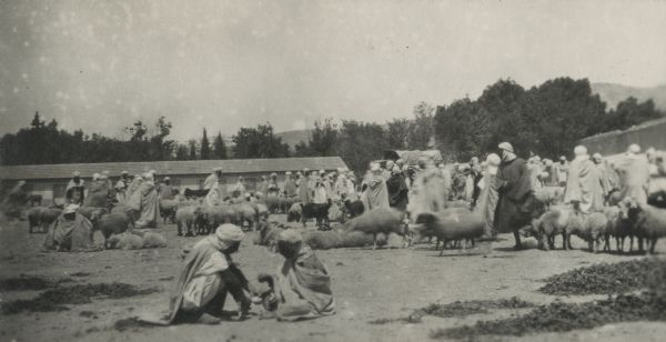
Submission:
M 637 240 L 639 251 L 654 252 L 656 242 L 666 235 L 666 210 L 625 199 L 616 205 L 606 207 L 603 212 L 577 214 L 569 205 L 561 204 L 562 188 L 545 188 L 536 193 L 543 210 L 534 212 L 532 224 L 519 229 L 523 237 L 533 237 L 543 250 L 555 248 L 555 238 L 561 235 L 563 249 L 571 249 L 571 235 L 587 242 L 589 251 L 610 251 L 610 239 L 616 240 L 616 250 L 624 252 L 625 240 L 629 238 L 629 251 Z M 61 213 L 57 207 L 33 207 L 27 212 L 29 230 L 44 231 Z M 284 229 L 303 229 L 305 222 L 315 220 L 316 231 L 303 230 L 305 241 L 315 249 L 390 245 L 407 247 L 436 239 L 435 249 L 442 244 L 466 248 L 485 232 L 485 218 L 482 205 L 470 209 L 464 201 L 451 201 L 438 212 L 422 212 L 406 219 L 394 209 L 374 209 L 363 212 L 359 201 L 340 203 L 296 202 L 295 199 L 272 198 L 258 201 L 228 200 L 219 205 L 205 205 L 201 199 L 161 200 L 160 213 L 163 222 L 176 224 L 179 235 L 209 234 L 224 222 L 259 231 L 256 243 L 271 245 Z M 141 248 L 143 232 L 135 232 L 134 215 L 119 205 L 111 210 L 103 208 L 79 208 L 79 212 L 93 224 L 94 231 L 104 237 L 105 248 Z M 270 214 L 286 213 L 287 222 L 270 220 Z M 333 223 L 332 222 L 336 222 Z M 127 231 L 132 237 L 125 241 L 114 235 Z M 154 233 L 153 233 L 154 234 Z M 135 241 L 134 241 L 135 240 Z M 143 248 L 164 245 L 165 241 L 149 234 Z M 401 241 L 402 243 L 398 243 Z M 647 243 L 644 247 L 644 242 Z M 603 243 L 603 248 L 602 248 Z

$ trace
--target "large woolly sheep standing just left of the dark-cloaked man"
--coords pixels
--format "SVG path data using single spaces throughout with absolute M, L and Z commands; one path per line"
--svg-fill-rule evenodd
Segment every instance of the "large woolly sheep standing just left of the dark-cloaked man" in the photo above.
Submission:
M 471 240 L 481 238 L 484 233 L 485 221 L 480 210 L 470 211 L 464 208 L 451 208 L 435 213 L 424 212 L 416 217 L 417 235 L 432 234 L 443 241 L 440 256 L 448 241 Z

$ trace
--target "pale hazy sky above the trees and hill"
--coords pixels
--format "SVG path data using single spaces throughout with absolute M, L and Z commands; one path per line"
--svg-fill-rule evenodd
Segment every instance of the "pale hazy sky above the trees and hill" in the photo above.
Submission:
M 666 1 L 0 0 L 0 134 L 385 122 L 498 79 L 666 83 Z

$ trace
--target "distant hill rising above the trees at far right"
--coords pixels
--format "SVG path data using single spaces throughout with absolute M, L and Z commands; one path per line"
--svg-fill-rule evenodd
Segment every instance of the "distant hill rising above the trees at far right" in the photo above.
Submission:
M 628 97 L 638 99 L 639 102 L 652 99 L 657 109 L 666 111 L 666 84 L 653 88 L 628 87 L 616 83 L 592 83 L 592 92 L 598 93 L 606 108 L 612 109 Z

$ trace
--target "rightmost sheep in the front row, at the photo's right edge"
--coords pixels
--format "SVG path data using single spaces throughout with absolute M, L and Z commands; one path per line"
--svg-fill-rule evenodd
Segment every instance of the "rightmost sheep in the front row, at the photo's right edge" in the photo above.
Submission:
M 633 199 L 622 202 L 634 234 L 638 238 L 638 250 L 643 252 L 643 239 L 648 243 L 649 253 L 654 254 L 657 240 L 666 237 L 666 209 L 640 203 Z

